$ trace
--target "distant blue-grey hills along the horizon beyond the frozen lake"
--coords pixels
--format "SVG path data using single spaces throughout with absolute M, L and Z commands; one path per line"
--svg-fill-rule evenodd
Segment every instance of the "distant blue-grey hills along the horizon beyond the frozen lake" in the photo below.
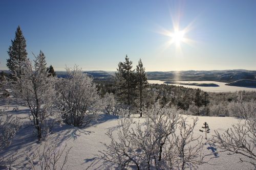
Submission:
M 8 70 L 3 70 L 9 72 Z M 95 80 L 112 80 L 115 71 L 84 71 Z M 234 69 L 234 70 L 187 70 L 187 71 L 148 71 L 148 80 L 161 81 L 217 81 L 230 83 L 237 80 L 256 81 L 256 70 Z M 58 78 L 67 78 L 66 71 L 56 71 Z M 246 81 L 242 81 L 246 82 Z

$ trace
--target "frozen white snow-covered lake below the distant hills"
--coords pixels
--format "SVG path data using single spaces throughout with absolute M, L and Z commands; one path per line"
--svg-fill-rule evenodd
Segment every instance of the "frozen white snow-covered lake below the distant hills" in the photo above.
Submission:
M 164 81 L 160 81 L 160 80 L 147 80 L 147 81 L 148 81 L 148 83 L 151 83 L 151 84 L 164 84 Z M 176 81 L 176 82 L 181 82 L 181 83 L 215 83 L 215 84 L 218 84 L 219 87 L 201 87 L 201 86 L 172 84 L 172 85 L 175 85 L 175 86 L 183 86 L 183 87 L 188 87 L 188 88 L 200 88 L 201 90 L 211 91 L 211 92 L 222 92 L 222 91 L 223 92 L 225 92 L 225 91 L 236 92 L 236 91 L 241 91 L 241 90 L 256 91 L 256 88 L 227 86 L 227 85 L 225 85 L 226 83 L 215 82 L 215 81 Z

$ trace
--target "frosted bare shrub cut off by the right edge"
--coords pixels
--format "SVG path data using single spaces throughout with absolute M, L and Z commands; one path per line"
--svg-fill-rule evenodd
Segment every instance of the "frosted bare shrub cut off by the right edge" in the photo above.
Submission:
M 215 131 L 213 141 L 216 142 L 221 152 L 239 154 L 241 162 L 250 163 L 256 168 L 256 101 L 243 102 L 239 96 L 237 102 L 239 115 L 245 118 L 238 125 L 220 134 Z

